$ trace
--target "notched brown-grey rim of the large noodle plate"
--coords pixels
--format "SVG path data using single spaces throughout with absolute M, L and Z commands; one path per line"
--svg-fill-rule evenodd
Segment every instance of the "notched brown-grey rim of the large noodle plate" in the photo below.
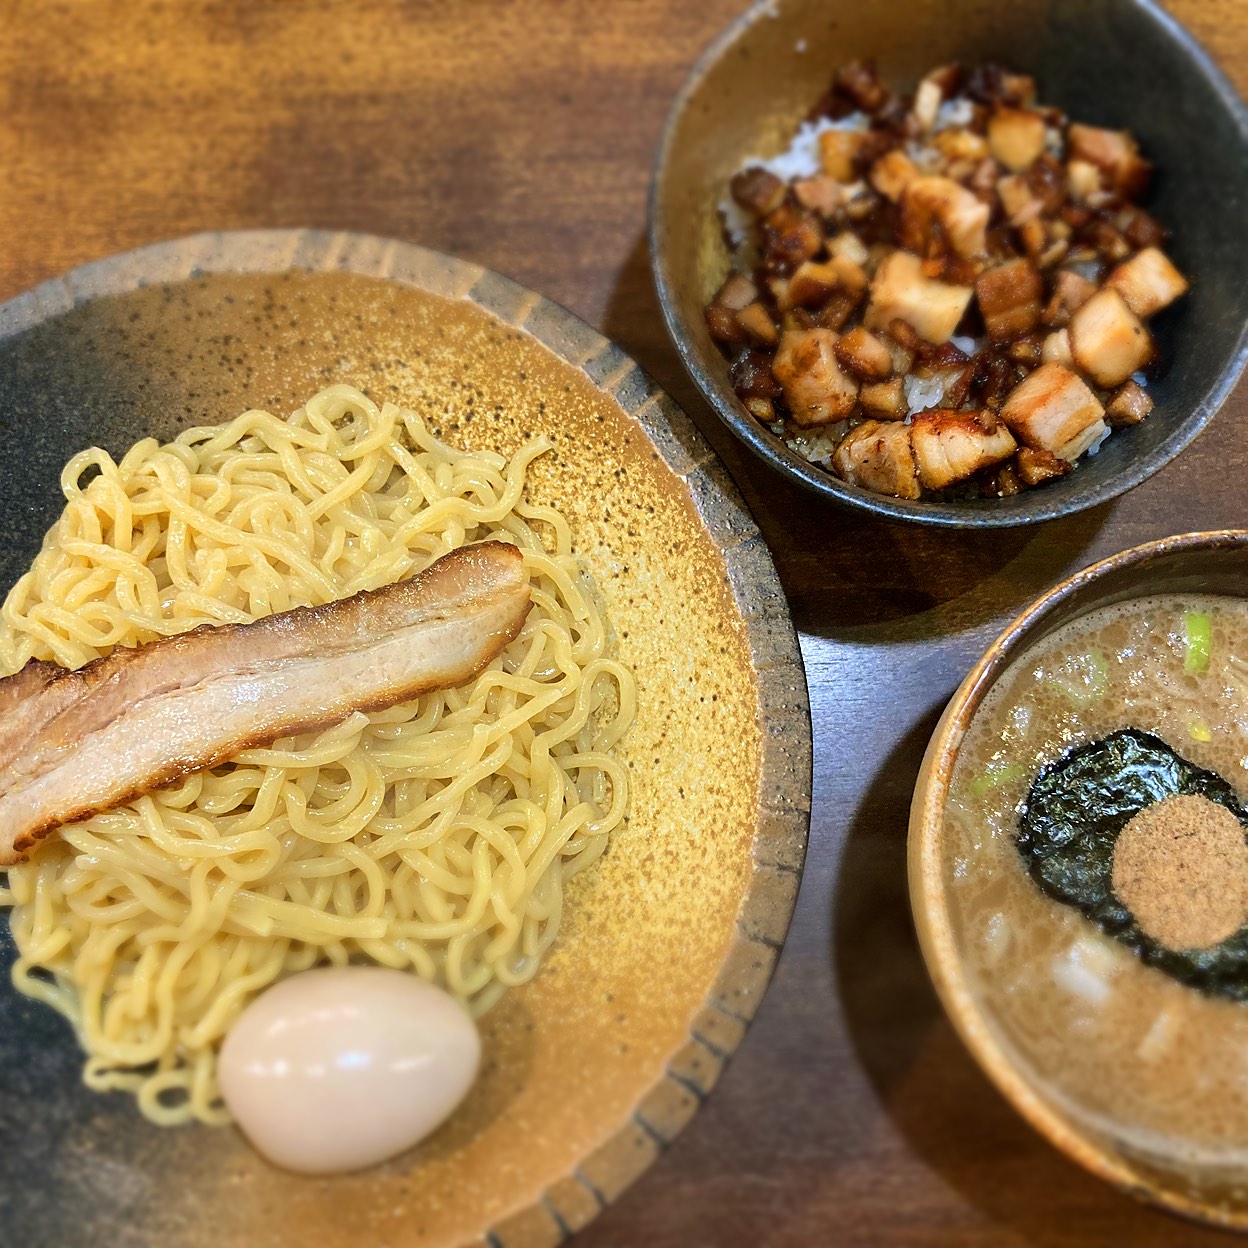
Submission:
M 615 343 L 493 270 L 376 235 L 314 228 L 211 231 L 97 260 L 0 302 L 0 339 L 80 303 L 215 273 L 338 271 L 475 305 L 535 338 L 610 396 L 679 479 L 724 560 L 758 680 L 759 804 L 749 875 L 718 975 L 689 1031 L 625 1118 L 570 1173 L 552 1174 L 466 1248 L 544 1248 L 612 1204 L 711 1092 L 770 983 L 797 901 L 810 832 L 812 748 L 806 674 L 770 552 L 731 477 L 685 412 Z

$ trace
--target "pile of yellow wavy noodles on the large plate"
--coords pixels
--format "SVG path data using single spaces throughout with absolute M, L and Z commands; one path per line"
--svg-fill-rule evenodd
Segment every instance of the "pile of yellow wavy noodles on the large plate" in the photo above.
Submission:
M 286 421 L 66 466 L 65 510 L 4 604 L 6 673 L 329 602 L 485 538 L 524 552 L 534 602 L 470 685 L 247 750 L 9 871 L 14 982 L 72 1022 L 91 1087 L 155 1122 L 225 1122 L 220 1041 L 282 976 L 379 962 L 479 1015 L 537 971 L 564 881 L 624 816 L 613 748 L 634 709 L 567 520 L 524 500 L 547 447 L 456 451 L 337 386 Z

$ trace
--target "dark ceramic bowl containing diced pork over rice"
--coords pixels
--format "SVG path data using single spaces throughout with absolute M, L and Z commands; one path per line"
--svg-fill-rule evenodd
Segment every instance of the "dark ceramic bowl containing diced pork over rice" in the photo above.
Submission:
M 1151 324 L 1167 362 L 1156 409 L 1068 477 L 1012 498 L 909 503 L 807 463 L 744 408 L 703 308 L 729 271 L 718 203 L 749 155 L 787 146 L 835 69 L 875 57 L 912 87 L 932 66 L 996 60 L 1033 74 L 1078 121 L 1129 129 L 1158 167 L 1146 201 L 1173 232 L 1192 293 Z M 1138 485 L 1179 453 L 1248 358 L 1248 110 L 1206 52 L 1147 0 L 769 0 L 694 66 L 673 106 L 650 196 L 650 256 L 668 329 L 720 419 L 760 458 L 825 498 L 951 528 L 1035 524 Z

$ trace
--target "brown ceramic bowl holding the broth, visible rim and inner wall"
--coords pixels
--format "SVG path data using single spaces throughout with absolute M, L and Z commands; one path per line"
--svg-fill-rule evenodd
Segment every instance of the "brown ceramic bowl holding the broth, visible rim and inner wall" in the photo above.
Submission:
M 1056 585 L 992 643 L 950 699 L 919 773 L 910 811 L 910 904 L 924 960 L 950 1020 L 985 1073 L 1050 1143 L 1131 1196 L 1248 1231 L 1248 1173 L 1242 1166 L 1146 1154 L 1126 1134 L 1073 1116 L 1046 1091 L 1000 1025 L 993 996 L 977 991 L 967 973 L 965 934 L 948 887 L 943 840 L 950 779 L 967 729 L 993 685 L 1062 625 L 1151 594 L 1248 598 L 1248 530 L 1184 533 L 1116 554 Z

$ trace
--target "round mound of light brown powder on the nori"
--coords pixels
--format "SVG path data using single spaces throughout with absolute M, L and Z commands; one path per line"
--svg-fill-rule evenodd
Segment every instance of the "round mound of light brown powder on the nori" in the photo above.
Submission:
M 1208 797 L 1167 797 L 1132 817 L 1112 880 L 1144 934 L 1173 950 L 1208 948 L 1248 921 L 1244 829 Z

